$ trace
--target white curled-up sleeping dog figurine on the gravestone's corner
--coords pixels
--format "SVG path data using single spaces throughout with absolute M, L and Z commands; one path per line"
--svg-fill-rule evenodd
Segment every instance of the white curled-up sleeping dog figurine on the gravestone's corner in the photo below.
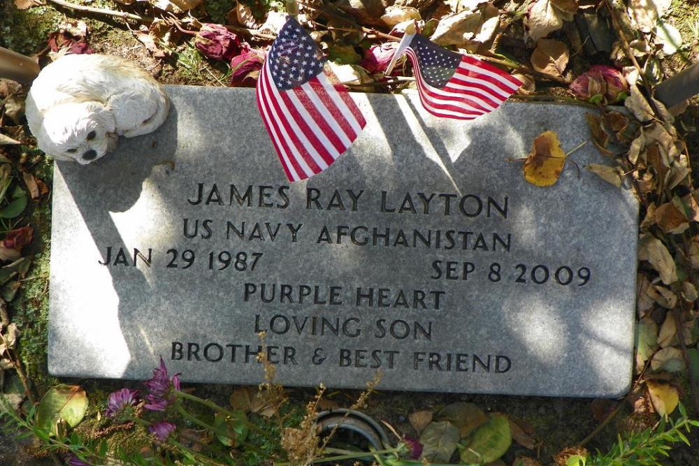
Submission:
M 38 147 L 83 165 L 114 150 L 119 136 L 158 128 L 170 102 L 136 64 L 99 54 L 66 55 L 43 68 L 27 95 L 27 122 Z

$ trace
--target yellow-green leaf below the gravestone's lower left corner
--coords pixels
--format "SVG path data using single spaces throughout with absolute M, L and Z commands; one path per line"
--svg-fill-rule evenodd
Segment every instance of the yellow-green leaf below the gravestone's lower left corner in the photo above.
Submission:
M 87 412 L 87 394 L 80 386 L 59 384 L 43 395 L 36 411 L 36 425 L 57 435 L 61 421 L 73 428 Z

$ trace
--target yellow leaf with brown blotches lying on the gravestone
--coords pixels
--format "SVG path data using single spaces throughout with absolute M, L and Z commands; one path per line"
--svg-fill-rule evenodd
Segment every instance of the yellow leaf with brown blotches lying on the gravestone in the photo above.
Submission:
M 524 179 L 535 186 L 556 184 L 565 165 L 565 152 L 554 131 L 536 137 L 531 152 L 524 161 Z

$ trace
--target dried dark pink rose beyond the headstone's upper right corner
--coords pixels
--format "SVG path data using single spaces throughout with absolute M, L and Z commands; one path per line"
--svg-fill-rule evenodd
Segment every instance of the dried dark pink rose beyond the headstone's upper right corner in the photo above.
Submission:
M 616 69 L 606 65 L 596 65 L 579 75 L 569 86 L 578 99 L 591 103 L 623 101 L 628 96 L 628 84 Z

